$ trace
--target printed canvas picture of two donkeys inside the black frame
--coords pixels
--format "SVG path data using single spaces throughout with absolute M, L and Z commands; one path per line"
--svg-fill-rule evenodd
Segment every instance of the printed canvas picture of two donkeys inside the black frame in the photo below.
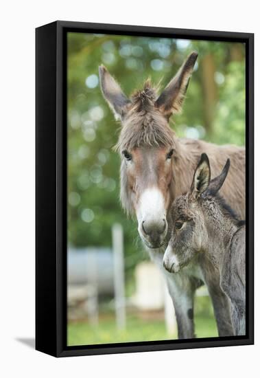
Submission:
M 67 346 L 246 335 L 245 56 L 67 32 Z

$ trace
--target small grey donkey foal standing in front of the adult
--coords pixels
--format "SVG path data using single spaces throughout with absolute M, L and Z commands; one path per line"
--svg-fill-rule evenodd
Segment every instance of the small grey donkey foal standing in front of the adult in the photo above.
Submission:
M 193 260 L 207 270 L 209 260 L 220 271 L 220 287 L 231 300 L 235 335 L 246 333 L 246 225 L 220 197 L 230 160 L 211 180 L 209 158 L 202 154 L 191 189 L 172 205 L 172 236 L 163 266 L 177 273 Z

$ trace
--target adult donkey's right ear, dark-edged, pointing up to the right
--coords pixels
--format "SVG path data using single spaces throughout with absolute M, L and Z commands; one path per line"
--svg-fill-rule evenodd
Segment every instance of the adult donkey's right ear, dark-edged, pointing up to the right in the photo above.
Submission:
M 191 54 L 189 54 L 176 76 L 172 78 L 156 100 L 155 106 L 163 113 L 163 115 L 165 115 L 165 117 L 169 118 L 170 115 L 174 113 L 180 113 L 182 102 L 189 85 L 189 78 L 191 77 L 197 56 L 197 52 L 191 52 Z

